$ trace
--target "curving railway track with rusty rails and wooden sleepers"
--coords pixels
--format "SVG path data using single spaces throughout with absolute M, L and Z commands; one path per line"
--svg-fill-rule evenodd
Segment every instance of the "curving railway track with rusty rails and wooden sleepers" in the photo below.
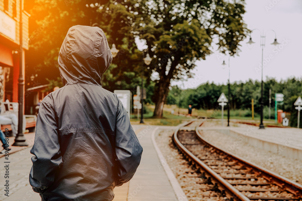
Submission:
M 202 137 L 202 121 L 190 121 L 175 131 L 173 141 L 207 183 L 229 200 L 299 200 L 302 186 L 239 156 L 214 146 Z

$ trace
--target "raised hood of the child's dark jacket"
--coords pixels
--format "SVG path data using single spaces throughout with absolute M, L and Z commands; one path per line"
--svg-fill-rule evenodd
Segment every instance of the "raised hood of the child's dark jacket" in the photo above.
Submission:
M 101 76 L 109 68 L 112 54 L 107 38 L 99 27 L 76 25 L 68 30 L 59 52 L 59 70 L 63 85 L 101 85 Z

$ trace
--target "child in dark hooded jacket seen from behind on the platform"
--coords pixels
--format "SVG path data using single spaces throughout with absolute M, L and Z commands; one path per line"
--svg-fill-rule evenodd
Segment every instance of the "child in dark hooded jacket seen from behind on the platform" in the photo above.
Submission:
M 30 184 L 42 200 L 112 200 L 142 147 L 117 96 L 101 87 L 112 55 L 103 31 L 71 27 L 59 53 L 64 87 L 40 104 Z

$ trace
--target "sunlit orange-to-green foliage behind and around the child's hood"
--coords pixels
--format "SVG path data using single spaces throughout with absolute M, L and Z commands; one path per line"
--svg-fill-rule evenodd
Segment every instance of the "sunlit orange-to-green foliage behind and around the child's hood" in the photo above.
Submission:
M 99 26 L 109 46 L 115 43 L 120 50 L 102 76 L 103 87 L 112 92 L 127 89 L 136 93 L 143 56 L 136 47 L 133 28 L 129 26 L 133 20 L 130 5 L 130 1 L 105 0 L 35 0 L 27 4 L 32 15 L 27 79 L 31 74 L 38 74 L 38 83 L 52 85 L 59 76 L 57 58 L 68 29 L 77 24 Z M 150 77 L 148 72 L 145 75 Z M 146 84 L 150 85 L 149 79 Z

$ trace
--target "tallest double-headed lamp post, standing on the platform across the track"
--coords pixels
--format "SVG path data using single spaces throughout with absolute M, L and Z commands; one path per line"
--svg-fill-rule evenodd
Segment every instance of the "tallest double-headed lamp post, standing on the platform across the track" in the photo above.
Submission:
M 261 100 L 260 100 L 260 108 L 261 108 L 261 112 L 260 112 L 260 125 L 259 125 L 259 129 L 264 129 L 264 125 L 263 125 L 263 49 L 265 47 L 265 36 L 266 36 L 266 33 L 268 31 L 273 31 L 275 33 L 275 40 L 273 43 L 271 43 L 271 45 L 274 45 L 274 46 L 277 46 L 279 45 L 280 43 L 277 42 L 277 36 L 276 36 L 276 32 L 274 30 L 267 30 L 265 33 L 264 31 L 261 31 L 259 29 L 253 29 L 252 32 L 254 30 L 258 30 L 260 32 L 260 38 L 261 38 L 261 41 L 260 41 L 260 46 L 262 47 L 262 61 L 261 61 Z M 252 37 L 250 36 L 249 38 L 249 42 L 247 42 L 248 45 L 254 45 L 255 42 L 252 41 Z

